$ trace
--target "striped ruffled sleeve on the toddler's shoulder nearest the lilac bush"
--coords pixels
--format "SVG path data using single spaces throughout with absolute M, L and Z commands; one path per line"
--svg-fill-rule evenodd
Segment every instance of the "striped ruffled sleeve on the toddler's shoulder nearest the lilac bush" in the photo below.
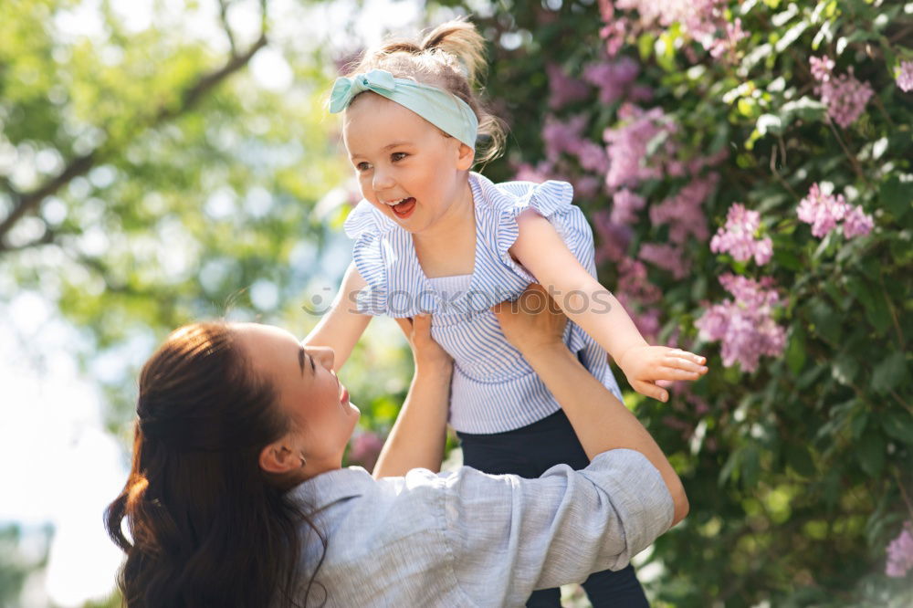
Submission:
M 572 204 L 573 186 L 570 183 L 557 180 L 539 184 L 508 182 L 499 183 L 498 189 L 508 194 L 506 199 L 510 201 L 501 208 L 498 215 L 496 237 L 498 258 L 505 266 L 511 268 L 521 278 L 530 282 L 536 280 L 526 268 L 510 257 L 509 253 L 510 247 L 517 242 L 517 236 L 519 236 L 517 216 L 527 209 L 535 209 L 548 219 L 574 256 L 584 261 L 581 254 L 585 257 L 584 246 L 587 238 L 585 234 L 580 234 L 581 220 L 582 224 L 586 226 L 586 232 L 589 232 L 589 228 L 580 208 Z M 592 249 L 592 232 L 590 232 L 588 240 L 589 247 Z

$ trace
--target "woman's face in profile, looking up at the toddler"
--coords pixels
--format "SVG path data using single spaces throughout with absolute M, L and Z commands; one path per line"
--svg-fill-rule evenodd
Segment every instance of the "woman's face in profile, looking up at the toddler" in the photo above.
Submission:
M 315 468 L 338 467 L 359 410 L 333 372 L 333 351 L 302 346 L 286 330 L 257 323 L 234 326 L 253 372 L 272 383 Z

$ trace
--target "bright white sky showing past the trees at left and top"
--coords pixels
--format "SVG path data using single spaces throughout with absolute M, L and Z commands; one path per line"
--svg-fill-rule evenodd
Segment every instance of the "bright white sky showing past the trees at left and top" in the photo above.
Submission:
M 99 4 L 99 0 L 85 0 L 59 18 L 55 25 L 61 36 L 98 36 Z M 152 0 L 111 4 L 130 29 L 149 26 Z M 165 0 L 163 4 L 175 5 L 173 14 L 177 14 L 184 2 Z M 256 35 L 250 26 L 258 23 L 258 17 L 251 18 L 257 4 L 239 3 L 230 14 L 242 39 Z M 317 15 L 304 23 L 294 0 L 272 4 L 278 16 L 274 38 L 310 44 L 322 39 L 334 49 L 351 48 L 352 39 L 344 34 L 342 24 L 357 12 L 353 0 L 316 5 L 311 10 Z M 199 23 L 184 26 L 214 47 L 224 46 L 225 37 L 213 17 L 215 2 L 199 5 Z M 294 22 L 282 18 L 292 13 Z M 370 45 L 388 29 L 408 29 L 419 16 L 416 0 L 365 0 L 355 18 L 355 31 Z M 261 50 L 250 69 L 264 87 L 281 90 L 290 84 L 289 65 L 272 49 Z M 4 281 L 10 278 L 0 274 L 0 283 Z M 8 285 L 0 287 L 13 292 Z M 0 305 L 0 524 L 18 522 L 26 533 L 31 530 L 32 540 L 48 522 L 56 530 L 47 572 L 43 579 L 26 584 L 24 607 L 44 606 L 48 599 L 61 606 L 79 606 L 105 597 L 121 562 L 121 552 L 105 534 L 101 518 L 122 487 L 127 463 L 121 445 L 103 430 L 100 395 L 80 376 L 68 354 L 79 340 L 78 332 L 56 319 L 55 311 L 37 294 L 20 293 Z M 144 351 L 139 353 L 142 356 L 148 354 L 146 349 L 136 350 Z M 28 539 L 25 544 L 27 548 Z

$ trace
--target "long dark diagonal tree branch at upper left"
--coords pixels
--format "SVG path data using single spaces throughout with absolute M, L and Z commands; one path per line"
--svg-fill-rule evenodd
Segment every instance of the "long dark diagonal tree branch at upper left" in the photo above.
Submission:
M 194 82 L 193 86 L 186 89 L 184 94 L 181 96 L 181 103 L 173 107 L 164 107 L 158 111 L 154 116 L 152 121 L 146 125 L 146 128 L 153 128 L 164 121 L 169 121 L 177 116 L 180 116 L 187 110 L 196 105 L 196 103 L 201 100 L 206 93 L 211 89 L 214 89 L 223 80 L 227 79 L 229 76 L 234 74 L 237 70 L 244 68 L 247 65 L 247 62 L 257 53 L 257 51 L 266 46 L 267 44 L 267 35 L 266 31 L 261 33 L 257 42 L 255 42 L 247 51 L 242 55 L 233 55 L 228 59 L 226 64 L 222 68 L 218 68 L 215 71 L 209 72 L 202 75 L 199 79 Z M 138 130 L 137 134 L 142 131 Z M 130 138 L 125 139 L 121 142 L 121 147 L 126 145 L 130 141 Z M 104 144 L 102 144 L 103 146 Z M 60 188 L 65 186 L 71 180 L 79 175 L 84 175 L 88 173 L 89 170 L 94 167 L 100 159 L 110 155 L 112 150 L 104 150 L 102 152 L 101 147 L 96 148 L 92 152 L 77 156 L 68 162 L 64 170 L 59 173 L 56 177 L 51 179 L 49 182 L 39 186 L 36 190 L 32 192 L 20 194 L 17 197 L 17 200 L 14 201 L 13 209 L 10 211 L 9 215 L 3 219 L 3 222 L 0 222 L 0 253 L 3 251 L 9 251 L 11 247 L 4 246 L 5 236 L 12 230 L 13 226 L 16 225 L 24 215 L 29 213 L 34 213 L 38 204 L 42 200 L 50 196 L 51 194 L 56 193 Z

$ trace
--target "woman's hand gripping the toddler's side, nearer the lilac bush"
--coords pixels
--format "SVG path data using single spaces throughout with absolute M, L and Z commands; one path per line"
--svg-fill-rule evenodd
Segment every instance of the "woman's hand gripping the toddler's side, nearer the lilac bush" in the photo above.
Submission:
M 504 337 L 524 356 L 532 352 L 565 348 L 562 336 L 567 317 L 539 283 L 530 284 L 516 301 L 491 308 Z

